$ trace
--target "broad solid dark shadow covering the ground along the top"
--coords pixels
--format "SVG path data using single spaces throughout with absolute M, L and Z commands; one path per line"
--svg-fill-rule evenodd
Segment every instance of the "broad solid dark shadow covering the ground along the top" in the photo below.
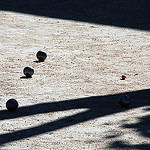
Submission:
M 2 0 L 0 10 L 150 30 L 148 0 Z

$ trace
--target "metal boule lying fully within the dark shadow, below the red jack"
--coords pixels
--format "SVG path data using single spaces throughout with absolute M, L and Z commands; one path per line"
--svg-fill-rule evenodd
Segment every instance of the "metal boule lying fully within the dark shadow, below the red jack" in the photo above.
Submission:
M 130 97 L 126 94 L 120 96 L 119 104 L 121 107 L 128 107 L 131 103 Z

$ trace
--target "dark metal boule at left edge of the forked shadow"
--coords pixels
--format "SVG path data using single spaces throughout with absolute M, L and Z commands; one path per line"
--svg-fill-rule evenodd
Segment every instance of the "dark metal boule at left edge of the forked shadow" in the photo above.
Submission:
M 15 99 L 9 99 L 6 102 L 6 108 L 10 112 L 15 112 L 18 109 L 18 102 Z

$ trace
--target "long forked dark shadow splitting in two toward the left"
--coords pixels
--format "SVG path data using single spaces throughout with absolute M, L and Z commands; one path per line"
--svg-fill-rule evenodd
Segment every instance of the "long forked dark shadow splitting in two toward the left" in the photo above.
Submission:
M 128 92 L 132 99 L 132 104 L 128 108 L 121 108 L 118 104 L 120 94 L 106 95 L 106 96 L 94 96 L 87 98 L 80 98 L 74 100 L 65 100 L 60 102 L 40 103 L 32 106 L 21 107 L 15 113 L 10 113 L 7 110 L 0 111 L 0 120 L 14 119 L 24 116 L 31 116 L 36 114 L 45 114 L 50 112 L 58 112 L 72 109 L 86 108 L 87 110 L 75 115 L 64 117 L 62 119 L 48 122 L 39 126 L 14 131 L 11 133 L 0 134 L 0 145 L 5 143 L 33 137 L 36 135 L 44 134 L 51 131 L 56 131 L 62 128 L 73 126 L 82 122 L 86 122 L 95 118 L 104 117 L 107 115 L 119 113 L 132 108 L 138 108 L 142 106 L 150 105 L 150 90 L 141 90 L 135 92 Z M 137 128 L 134 125 L 131 126 Z M 145 136 L 143 130 L 140 131 Z M 120 143 L 119 143 L 120 144 Z M 115 143 L 114 143 L 115 145 Z M 114 146 L 113 146 L 114 147 Z M 118 147 L 118 144 L 115 145 Z

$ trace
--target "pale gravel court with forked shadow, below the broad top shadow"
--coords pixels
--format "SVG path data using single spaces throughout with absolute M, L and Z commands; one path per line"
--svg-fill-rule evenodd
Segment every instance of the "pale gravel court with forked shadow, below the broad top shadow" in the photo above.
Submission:
M 6 11 L 0 23 L 0 149 L 150 147 L 149 31 Z M 30 79 L 25 66 L 35 69 Z

